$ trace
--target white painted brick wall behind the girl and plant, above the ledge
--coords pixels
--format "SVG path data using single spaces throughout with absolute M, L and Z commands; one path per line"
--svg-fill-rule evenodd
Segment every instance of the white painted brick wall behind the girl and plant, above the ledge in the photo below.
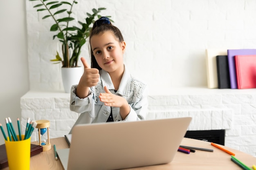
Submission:
M 206 86 L 207 48 L 256 46 L 255 0 L 78 2 L 74 18 L 81 21 L 92 8 L 106 7 L 100 14 L 111 15 L 123 33 L 125 63 L 133 75 L 148 83 L 150 95 L 168 95 L 170 87 Z M 60 44 L 52 40 L 52 20 L 42 20 L 47 13 L 36 12 L 36 4 L 26 0 L 30 90 L 63 90 L 61 65 L 49 61 L 60 51 Z M 88 44 L 81 56 L 89 61 Z M 159 85 L 162 91 L 155 90 Z

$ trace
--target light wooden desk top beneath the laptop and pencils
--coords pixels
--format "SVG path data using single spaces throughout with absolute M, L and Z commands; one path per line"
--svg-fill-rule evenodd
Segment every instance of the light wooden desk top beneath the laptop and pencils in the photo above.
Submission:
M 55 144 L 57 149 L 68 148 L 69 146 L 67 145 L 65 138 L 59 137 L 50 139 L 50 143 L 52 144 L 51 150 L 41 152 L 40 154 L 31 157 L 30 170 L 64 170 L 61 161 L 55 160 L 53 145 Z M 209 148 L 214 151 L 207 152 L 196 150 L 195 153 L 191 152 L 190 154 L 177 152 L 171 163 L 157 166 L 129 168 L 126 170 L 241 170 L 239 166 L 230 160 L 231 156 L 229 154 L 211 146 L 209 142 L 184 138 L 181 145 Z M 223 147 L 234 152 L 236 154 L 235 157 L 250 168 L 252 168 L 253 164 L 256 164 L 256 157 L 225 146 Z M 4 168 L 3 170 L 9 170 L 9 168 Z

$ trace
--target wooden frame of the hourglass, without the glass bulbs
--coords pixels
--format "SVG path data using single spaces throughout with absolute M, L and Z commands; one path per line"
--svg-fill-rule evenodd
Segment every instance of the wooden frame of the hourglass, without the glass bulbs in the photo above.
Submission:
M 49 127 L 50 121 L 49 120 L 36 120 L 36 128 L 38 128 L 38 137 L 39 137 L 39 145 L 43 146 L 43 151 L 51 150 L 52 146 L 50 144 L 50 135 L 49 135 Z M 47 128 L 47 144 L 41 144 L 41 132 L 40 129 Z

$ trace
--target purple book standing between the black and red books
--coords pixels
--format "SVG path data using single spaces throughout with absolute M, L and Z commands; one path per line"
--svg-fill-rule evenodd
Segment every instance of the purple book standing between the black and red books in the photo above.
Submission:
M 256 55 L 256 49 L 230 49 L 230 50 L 227 50 L 231 88 L 237 88 L 235 55 Z

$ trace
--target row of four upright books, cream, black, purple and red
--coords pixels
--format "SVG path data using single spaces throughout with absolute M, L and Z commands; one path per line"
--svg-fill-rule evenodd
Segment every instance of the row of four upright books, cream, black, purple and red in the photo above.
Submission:
M 207 49 L 208 88 L 256 88 L 256 49 Z

